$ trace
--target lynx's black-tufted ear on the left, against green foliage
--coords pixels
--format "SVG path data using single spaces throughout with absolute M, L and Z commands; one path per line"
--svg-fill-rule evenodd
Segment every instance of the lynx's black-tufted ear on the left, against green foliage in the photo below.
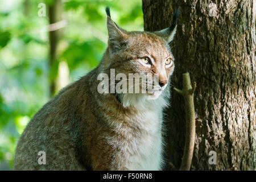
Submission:
M 113 49 L 121 48 L 124 45 L 123 40 L 126 36 L 126 31 L 120 28 L 111 19 L 109 7 L 106 7 L 106 14 L 108 15 L 107 27 L 109 34 L 109 46 Z

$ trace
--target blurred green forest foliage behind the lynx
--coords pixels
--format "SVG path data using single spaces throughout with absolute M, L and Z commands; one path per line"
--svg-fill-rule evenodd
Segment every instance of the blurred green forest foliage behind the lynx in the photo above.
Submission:
M 106 6 L 125 30 L 143 30 L 140 0 L 0 0 L 0 170 L 40 107 L 100 63 Z

